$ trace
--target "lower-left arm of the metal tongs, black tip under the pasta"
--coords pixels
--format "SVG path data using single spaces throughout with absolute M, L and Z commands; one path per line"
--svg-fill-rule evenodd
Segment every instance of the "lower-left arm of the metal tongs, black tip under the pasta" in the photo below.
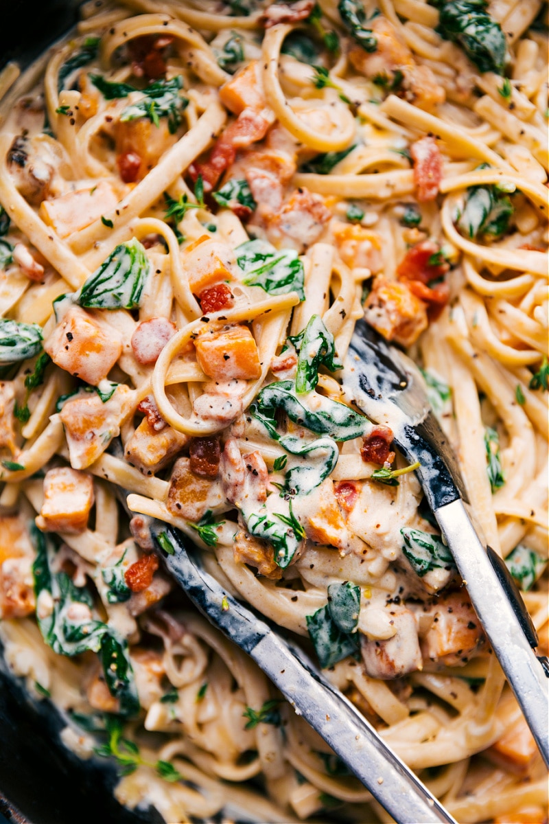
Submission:
M 303 650 L 235 601 L 202 569 L 199 551 L 182 532 L 153 521 L 151 534 L 163 550 L 170 573 L 198 609 L 254 658 L 295 711 L 328 742 L 398 824 L 457 824 Z

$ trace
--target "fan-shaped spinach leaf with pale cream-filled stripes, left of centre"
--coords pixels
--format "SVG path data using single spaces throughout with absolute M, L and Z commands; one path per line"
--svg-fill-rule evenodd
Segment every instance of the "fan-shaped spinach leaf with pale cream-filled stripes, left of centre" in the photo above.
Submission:
M 137 309 L 150 270 L 145 249 L 134 237 L 116 247 L 73 299 L 92 309 Z

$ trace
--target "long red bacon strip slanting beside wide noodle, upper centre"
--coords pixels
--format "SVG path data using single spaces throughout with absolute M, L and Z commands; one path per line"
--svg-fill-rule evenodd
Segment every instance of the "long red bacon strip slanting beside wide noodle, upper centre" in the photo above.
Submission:
M 209 159 L 202 163 L 193 163 L 188 173 L 193 180 L 202 175 L 204 191 L 211 192 L 226 169 L 236 157 L 236 150 L 250 146 L 262 140 L 267 133 L 271 120 L 263 113 L 244 109 L 234 123 L 227 126 L 221 138 L 213 147 Z

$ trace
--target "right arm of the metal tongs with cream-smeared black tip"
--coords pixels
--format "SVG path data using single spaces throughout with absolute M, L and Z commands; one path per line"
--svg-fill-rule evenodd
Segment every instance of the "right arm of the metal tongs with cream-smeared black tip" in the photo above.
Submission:
M 343 382 L 356 405 L 394 442 L 416 471 L 472 605 L 549 766 L 549 662 L 537 657 L 537 633 L 504 561 L 472 526 L 457 461 L 435 415 L 416 365 L 365 321 L 351 339 Z

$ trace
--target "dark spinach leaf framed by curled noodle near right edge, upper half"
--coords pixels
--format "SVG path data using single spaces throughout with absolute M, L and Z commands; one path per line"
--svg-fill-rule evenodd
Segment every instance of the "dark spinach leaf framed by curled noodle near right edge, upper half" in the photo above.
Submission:
M 513 213 L 509 197 L 497 186 L 470 186 L 463 212 L 458 216 L 458 229 L 470 238 L 479 234 L 500 237 L 509 228 Z

